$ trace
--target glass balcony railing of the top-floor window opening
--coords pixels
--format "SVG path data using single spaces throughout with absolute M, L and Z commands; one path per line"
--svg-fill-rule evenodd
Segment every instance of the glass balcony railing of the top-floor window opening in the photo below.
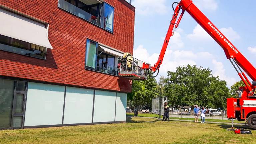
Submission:
M 99 18 L 97 18 L 94 15 L 89 14 L 88 12 L 72 5 L 71 3 L 65 1 L 65 0 L 59 0 L 58 7 L 61 9 L 64 9 L 82 19 L 85 19 L 91 23 L 94 23 L 98 26 L 100 26 Z

